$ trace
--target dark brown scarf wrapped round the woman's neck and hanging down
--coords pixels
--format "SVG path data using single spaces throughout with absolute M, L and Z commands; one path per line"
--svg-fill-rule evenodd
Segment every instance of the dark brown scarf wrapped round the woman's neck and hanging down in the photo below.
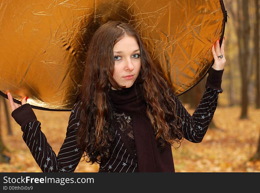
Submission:
M 146 113 L 147 104 L 142 97 L 142 85 L 135 82 L 130 88 L 110 89 L 109 97 L 117 112 L 132 116 L 139 172 L 175 172 L 171 145 L 167 143 L 163 152 L 157 148 Z

